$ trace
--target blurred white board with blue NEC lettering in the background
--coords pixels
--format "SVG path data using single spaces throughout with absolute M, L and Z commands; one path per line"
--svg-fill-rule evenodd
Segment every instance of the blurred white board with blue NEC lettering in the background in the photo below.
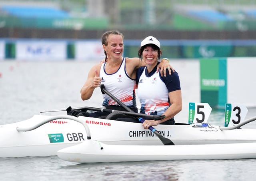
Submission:
M 64 60 L 66 42 L 62 41 L 18 41 L 16 59 L 22 60 Z

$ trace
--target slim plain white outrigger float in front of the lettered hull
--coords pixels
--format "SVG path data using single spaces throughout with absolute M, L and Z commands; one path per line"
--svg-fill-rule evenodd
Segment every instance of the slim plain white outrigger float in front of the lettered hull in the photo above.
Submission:
M 77 163 L 161 161 L 185 159 L 256 158 L 256 143 L 210 145 L 107 145 L 86 140 L 57 152 L 60 159 Z

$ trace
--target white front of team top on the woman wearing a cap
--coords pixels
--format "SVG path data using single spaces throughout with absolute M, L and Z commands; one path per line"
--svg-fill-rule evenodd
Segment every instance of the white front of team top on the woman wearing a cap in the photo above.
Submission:
M 137 95 L 140 99 L 140 111 L 145 114 L 157 113 L 162 115 L 169 107 L 169 92 L 164 82 L 160 79 L 159 72 L 147 77 L 144 68 L 139 78 Z

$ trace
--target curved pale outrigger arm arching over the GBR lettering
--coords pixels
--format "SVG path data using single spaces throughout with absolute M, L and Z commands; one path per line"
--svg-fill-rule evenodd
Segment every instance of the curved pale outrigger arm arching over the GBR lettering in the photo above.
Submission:
M 80 119 L 78 117 L 75 117 L 75 116 L 72 116 L 72 115 L 52 116 L 52 117 L 49 117 L 47 119 L 44 119 L 42 122 L 40 122 L 36 125 L 30 126 L 30 127 L 16 127 L 16 129 L 17 129 L 17 131 L 31 131 L 31 130 L 34 130 L 34 129 L 44 125 L 45 123 L 48 123 L 49 121 L 53 121 L 53 120 L 56 120 L 56 119 L 71 119 L 71 120 L 77 121 L 78 123 L 81 123 L 84 126 L 85 130 L 86 130 L 87 139 L 91 139 L 90 129 L 89 129 L 88 125 L 86 124 L 86 122 L 83 121 L 82 119 Z

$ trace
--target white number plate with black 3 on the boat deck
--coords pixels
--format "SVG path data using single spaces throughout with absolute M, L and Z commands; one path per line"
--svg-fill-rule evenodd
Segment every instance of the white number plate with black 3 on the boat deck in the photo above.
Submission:
M 224 127 L 231 127 L 241 123 L 244 121 L 247 112 L 248 109 L 243 104 L 226 103 Z

